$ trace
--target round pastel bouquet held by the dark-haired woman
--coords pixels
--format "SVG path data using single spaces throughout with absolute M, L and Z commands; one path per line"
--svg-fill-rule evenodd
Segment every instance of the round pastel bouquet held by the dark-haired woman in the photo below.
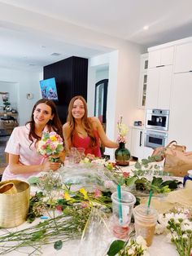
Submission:
M 59 161 L 59 152 L 63 151 L 63 139 L 55 132 L 43 132 L 37 144 L 37 152 L 50 161 Z M 52 156 L 52 157 L 51 157 Z

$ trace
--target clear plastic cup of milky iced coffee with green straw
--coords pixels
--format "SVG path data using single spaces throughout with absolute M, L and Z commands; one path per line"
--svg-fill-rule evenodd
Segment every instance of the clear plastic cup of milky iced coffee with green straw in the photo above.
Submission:
M 150 246 L 155 233 L 158 213 L 147 205 L 137 205 L 133 210 L 135 220 L 136 236 L 142 236 L 146 240 L 146 245 Z

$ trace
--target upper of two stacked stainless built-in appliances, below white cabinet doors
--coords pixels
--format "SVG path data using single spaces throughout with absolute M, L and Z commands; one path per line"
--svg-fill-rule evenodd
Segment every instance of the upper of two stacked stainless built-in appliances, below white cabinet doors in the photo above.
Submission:
M 146 129 L 168 130 L 169 110 L 146 109 Z

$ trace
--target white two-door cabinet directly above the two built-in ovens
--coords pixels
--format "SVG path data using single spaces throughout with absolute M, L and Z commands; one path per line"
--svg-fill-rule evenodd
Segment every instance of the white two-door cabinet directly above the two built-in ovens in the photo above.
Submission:
M 169 109 L 172 65 L 148 69 L 146 108 Z

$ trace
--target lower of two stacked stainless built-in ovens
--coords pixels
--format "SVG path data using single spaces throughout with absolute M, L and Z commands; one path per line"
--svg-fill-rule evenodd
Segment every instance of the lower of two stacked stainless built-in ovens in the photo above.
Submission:
M 147 148 L 164 147 L 167 144 L 168 135 L 165 132 L 145 130 L 144 146 Z

